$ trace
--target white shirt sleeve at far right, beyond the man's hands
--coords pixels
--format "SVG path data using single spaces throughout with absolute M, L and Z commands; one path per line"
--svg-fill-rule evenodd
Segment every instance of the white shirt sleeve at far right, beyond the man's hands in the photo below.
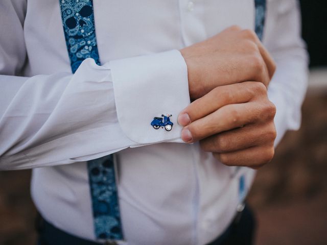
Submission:
M 268 12 L 264 44 L 276 62 L 268 96 L 276 106 L 275 145 L 287 130 L 297 130 L 301 105 L 307 90 L 308 54 L 301 39 L 298 1 L 267 1 Z

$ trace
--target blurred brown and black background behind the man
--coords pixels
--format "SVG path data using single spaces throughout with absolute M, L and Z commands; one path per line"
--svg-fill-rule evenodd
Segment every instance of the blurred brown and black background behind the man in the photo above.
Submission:
M 301 129 L 285 135 L 249 194 L 259 222 L 256 245 L 327 244 L 327 1 L 300 3 L 309 89 Z M 30 175 L 0 171 L 0 245 L 35 244 Z

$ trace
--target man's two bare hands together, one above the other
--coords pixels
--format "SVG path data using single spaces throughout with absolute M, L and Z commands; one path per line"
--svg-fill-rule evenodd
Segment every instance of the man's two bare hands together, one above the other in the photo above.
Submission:
M 181 138 L 228 166 L 258 168 L 274 155 L 275 63 L 252 31 L 231 27 L 181 50 L 195 99 L 178 116 Z M 250 82 L 247 82 L 250 81 Z

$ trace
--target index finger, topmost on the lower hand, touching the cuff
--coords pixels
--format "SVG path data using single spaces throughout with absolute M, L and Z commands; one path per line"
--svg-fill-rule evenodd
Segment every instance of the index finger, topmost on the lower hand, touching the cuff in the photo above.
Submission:
M 257 82 L 217 87 L 186 107 L 178 116 L 178 123 L 186 126 L 191 121 L 202 118 L 225 105 L 246 103 L 252 99 L 254 93 L 265 92 L 258 90 L 265 90 L 265 88 Z

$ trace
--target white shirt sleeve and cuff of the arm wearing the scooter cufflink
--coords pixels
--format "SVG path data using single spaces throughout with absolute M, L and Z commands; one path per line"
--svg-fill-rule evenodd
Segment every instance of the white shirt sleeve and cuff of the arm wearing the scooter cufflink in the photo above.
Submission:
M 74 75 L 19 77 L 26 59 L 25 7 L 18 1 L 0 4 L 0 169 L 68 164 L 128 147 L 182 142 L 177 115 L 190 97 L 177 50 L 102 66 L 86 59 Z M 166 113 L 172 114 L 172 130 L 155 130 L 153 117 Z

